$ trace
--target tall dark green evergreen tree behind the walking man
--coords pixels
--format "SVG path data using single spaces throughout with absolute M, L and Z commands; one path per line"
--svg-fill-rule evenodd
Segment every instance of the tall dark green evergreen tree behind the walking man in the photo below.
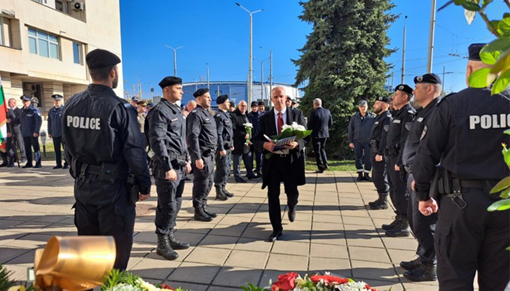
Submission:
M 315 98 L 333 115 L 330 129 L 330 155 L 352 157 L 347 146 L 350 115 L 357 111 L 357 101 L 388 94 L 384 90 L 390 66 L 384 58 L 394 50 L 386 30 L 397 19 L 390 10 L 390 0 L 310 0 L 300 2 L 300 19 L 313 25 L 312 33 L 300 49 L 296 85 L 304 87 L 303 111 L 312 109 Z

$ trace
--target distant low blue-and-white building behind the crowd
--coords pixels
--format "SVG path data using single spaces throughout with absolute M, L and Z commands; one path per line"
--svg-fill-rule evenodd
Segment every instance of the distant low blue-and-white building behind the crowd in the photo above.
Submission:
M 209 90 L 211 94 L 211 105 L 213 108 L 217 108 L 216 97 L 228 94 L 230 102 L 233 102 L 235 106 L 239 104 L 240 101 L 248 101 L 248 83 L 246 81 L 209 81 Z M 301 90 L 298 90 L 297 87 L 293 87 L 291 84 L 287 83 L 273 83 L 273 87 L 281 86 L 285 88 L 285 92 L 292 99 L 299 99 L 301 97 Z M 181 104 L 187 104 L 190 100 L 195 100 L 193 97 L 193 93 L 200 89 L 207 88 L 207 82 L 191 82 L 191 83 L 183 83 L 182 90 L 184 91 L 184 95 L 182 97 Z M 253 83 L 253 95 L 252 101 L 263 101 L 266 106 L 273 106 L 270 104 L 270 84 L 260 82 Z M 248 110 L 249 104 L 248 104 Z

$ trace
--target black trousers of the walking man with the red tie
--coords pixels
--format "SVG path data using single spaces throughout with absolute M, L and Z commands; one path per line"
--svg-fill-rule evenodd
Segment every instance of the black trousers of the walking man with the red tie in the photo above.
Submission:
M 291 176 L 291 157 L 280 157 L 273 155 L 271 157 L 271 167 L 269 168 L 268 180 L 268 204 L 269 220 L 273 226 L 273 231 L 281 231 L 282 212 L 280 209 L 280 183 L 283 182 L 285 194 L 287 194 L 287 206 L 296 208 L 298 205 L 298 185 Z

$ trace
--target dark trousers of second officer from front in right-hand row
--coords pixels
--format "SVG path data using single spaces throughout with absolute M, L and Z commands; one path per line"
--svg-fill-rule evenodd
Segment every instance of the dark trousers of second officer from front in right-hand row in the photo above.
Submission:
M 420 261 L 427 264 L 436 264 L 436 250 L 434 249 L 434 232 L 436 230 L 437 213 L 425 216 L 418 210 L 418 198 L 416 192 L 411 189 L 413 174 L 410 173 L 407 178 L 407 187 L 409 191 L 408 215 L 407 220 L 413 230 L 413 234 L 418 241 L 416 254 Z

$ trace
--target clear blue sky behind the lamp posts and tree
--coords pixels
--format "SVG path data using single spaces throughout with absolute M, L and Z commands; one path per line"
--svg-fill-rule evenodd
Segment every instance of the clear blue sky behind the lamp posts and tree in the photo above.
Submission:
M 312 27 L 298 19 L 303 8 L 298 1 L 238 0 L 248 10 L 264 9 L 253 15 L 253 76 L 261 79 L 261 62 L 264 78 L 269 76 L 269 50 L 273 50 L 273 81 L 294 83 L 296 66 L 291 59 L 299 57 L 306 36 Z M 150 5 L 136 1 L 120 1 L 120 22 L 123 46 L 124 90 L 133 92 L 133 85 L 142 84 L 145 98 L 160 94 L 159 81 L 174 75 L 173 50 L 177 50 L 177 75 L 184 82 L 207 80 L 247 80 L 249 56 L 249 14 L 234 1 L 153 0 Z M 395 0 L 392 11 L 401 17 L 388 31 L 390 48 L 397 52 L 387 58 L 394 64 L 394 85 L 401 80 L 401 47 L 403 43 L 404 15 L 406 28 L 405 82 L 426 72 L 427 45 L 431 1 Z M 437 1 L 437 8 L 446 0 Z M 490 19 L 502 17 L 508 9 L 503 1 L 495 1 L 488 10 Z M 465 87 L 464 74 L 467 45 L 491 41 L 483 20 L 478 15 L 469 26 L 464 10 L 449 6 L 436 13 L 433 72 L 442 76 L 445 67 L 446 90 Z M 265 61 L 264 61 L 265 60 Z M 390 78 L 390 83 L 391 83 Z

